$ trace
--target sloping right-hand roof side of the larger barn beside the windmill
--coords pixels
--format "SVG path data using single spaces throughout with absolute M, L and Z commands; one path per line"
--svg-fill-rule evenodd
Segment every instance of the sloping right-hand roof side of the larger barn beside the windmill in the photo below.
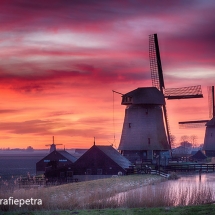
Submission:
M 103 153 L 105 153 L 109 158 L 111 158 L 115 163 L 121 166 L 123 169 L 128 168 L 132 165 L 132 163 L 122 156 L 116 149 L 112 146 L 98 146 L 95 145 L 98 149 L 100 149 Z

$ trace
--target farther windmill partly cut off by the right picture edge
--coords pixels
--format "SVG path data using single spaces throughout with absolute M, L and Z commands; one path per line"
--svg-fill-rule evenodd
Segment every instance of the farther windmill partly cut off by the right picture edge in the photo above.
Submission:
M 205 138 L 203 150 L 206 156 L 215 156 L 215 103 L 214 103 L 214 86 L 208 87 L 208 104 L 210 120 L 196 120 L 179 122 L 180 127 L 199 127 L 205 125 Z

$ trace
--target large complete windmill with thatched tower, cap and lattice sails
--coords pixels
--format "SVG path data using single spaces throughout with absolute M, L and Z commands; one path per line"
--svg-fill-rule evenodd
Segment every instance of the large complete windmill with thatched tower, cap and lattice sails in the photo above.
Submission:
M 154 159 L 171 149 L 165 98 L 202 98 L 201 86 L 165 89 L 157 34 L 149 36 L 153 87 L 141 87 L 122 95 L 126 105 L 119 150 L 130 161 Z

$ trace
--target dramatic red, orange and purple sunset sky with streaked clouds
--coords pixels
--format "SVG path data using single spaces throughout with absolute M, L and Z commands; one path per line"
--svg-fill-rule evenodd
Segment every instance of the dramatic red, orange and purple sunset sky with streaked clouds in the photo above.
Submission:
M 157 33 L 166 88 L 201 85 L 204 98 L 166 101 L 171 134 L 204 141 L 215 81 L 213 0 L 1 0 L 0 148 L 118 147 L 121 95 L 152 86 Z M 58 147 L 63 147 L 58 146 Z

